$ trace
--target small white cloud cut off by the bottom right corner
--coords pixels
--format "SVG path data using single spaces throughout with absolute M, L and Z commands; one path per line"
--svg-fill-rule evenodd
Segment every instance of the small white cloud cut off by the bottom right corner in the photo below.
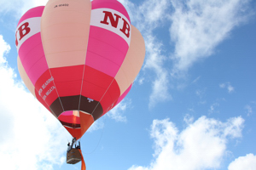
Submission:
M 232 161 L 228 167 L 229 170 L 254 170 L 256 169 L 256 156 L 253 154 L 247 154 L 246 156 L 240 156 Z

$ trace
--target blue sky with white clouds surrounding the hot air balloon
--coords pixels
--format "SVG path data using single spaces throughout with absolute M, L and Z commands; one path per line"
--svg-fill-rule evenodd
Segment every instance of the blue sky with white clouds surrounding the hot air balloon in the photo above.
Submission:
M 81 139 L 88 170 L 256 169 L 256 2 L 119 0 L 146 56 L 131 92 Z M 79 169 L 72 137 L 20 80 L 15 29 L 47 0 L 0 1 L 0 168 Z

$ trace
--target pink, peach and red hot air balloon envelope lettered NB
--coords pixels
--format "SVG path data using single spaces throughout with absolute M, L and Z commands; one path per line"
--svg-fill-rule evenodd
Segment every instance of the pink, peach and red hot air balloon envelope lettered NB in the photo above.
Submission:
M 20 77 L 74 139 L 125 98 L 145 56 L 117 0 L 49 0 L 20 18 L 15 36 Z

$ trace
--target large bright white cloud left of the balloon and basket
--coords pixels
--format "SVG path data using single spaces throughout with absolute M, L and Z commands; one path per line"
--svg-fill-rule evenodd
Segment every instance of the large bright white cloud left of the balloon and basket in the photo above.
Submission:
M 65 161 L 70 135 L 15 79 L 8 51 L 0 36 L 0 169 L 53 169 Z

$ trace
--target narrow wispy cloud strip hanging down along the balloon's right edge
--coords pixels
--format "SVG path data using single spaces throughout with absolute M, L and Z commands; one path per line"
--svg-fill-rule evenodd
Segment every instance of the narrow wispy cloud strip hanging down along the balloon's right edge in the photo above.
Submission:
M 169 71 L 164 67 L 167 57 L 163 54 L 163 44 L 154 36 L 154 29 L 162 26 L 167 18 L 167 10 L 171 3 L 167 0 L 143 1 L 139 6 L 129 1 L 120 1 L 127 8 L 131 23 L 142 32 L 146 45 L 146 58 L 143 71 L 151 70 L 154 74 L 147 75 L 152 82 L 152 93 L 149 97 L 149 107 L 154 107 L 158 102 L 172 99 L 169 94 Z M 140 79 L 143 80 L 143 79 Z M 145 81 L 143 81 L 145 82 Z M 142 83 L 142 82 L 140 82 Z

